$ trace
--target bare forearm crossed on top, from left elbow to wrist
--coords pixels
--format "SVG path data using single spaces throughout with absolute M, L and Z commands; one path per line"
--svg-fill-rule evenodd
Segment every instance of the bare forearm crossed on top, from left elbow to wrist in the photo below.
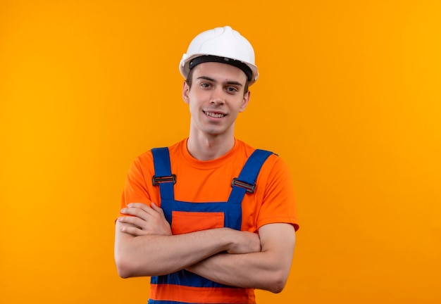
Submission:
M 132 236 L 116 223 L 115 260 L 121 277 L 168 274 L 228 249 L 225 229 L 180 235 Z

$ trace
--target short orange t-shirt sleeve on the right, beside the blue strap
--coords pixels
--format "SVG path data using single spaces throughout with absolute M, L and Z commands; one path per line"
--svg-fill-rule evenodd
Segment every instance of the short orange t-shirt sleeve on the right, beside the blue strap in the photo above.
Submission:
M 283 222 L 292 224 L 297 231 L 299 223 L 290 170 L 281 158 L 272 157 L 275 157 L 275 161 L 262 167 L 262 170 L 269 170 L 269 172 L 261 210 L 257 218 L 257 227 Z

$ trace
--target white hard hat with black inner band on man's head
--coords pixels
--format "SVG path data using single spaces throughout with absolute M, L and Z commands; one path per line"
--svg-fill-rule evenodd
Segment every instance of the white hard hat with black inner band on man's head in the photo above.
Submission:
M 194 66 L 204 62 L 220 62 L 234 65 L 247 75 L 249 86 L 256 82 L 259 72 L 254 64 L 253 46 L 231 27 L 216 27 L 198 34 L 179 64 L 181 75 L 187 79 Z

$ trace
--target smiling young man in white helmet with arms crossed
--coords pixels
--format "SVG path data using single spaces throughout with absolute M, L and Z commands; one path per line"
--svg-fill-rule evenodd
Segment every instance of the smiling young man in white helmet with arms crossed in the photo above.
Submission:
M 149 303 L 255 303 L 254 289 L 284 288 L 298 225 L 287 165 L 234 137 L 259 75 L 254 50 L 217 27 L 192 40 L 180 72 L 190 135 L 130 167 L 118 273 L 151 277 Z

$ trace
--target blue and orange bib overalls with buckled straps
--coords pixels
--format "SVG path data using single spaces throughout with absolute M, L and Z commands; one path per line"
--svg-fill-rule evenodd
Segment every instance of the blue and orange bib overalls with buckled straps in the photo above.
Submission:
M 173 186 L 179 177 L 171 172 L 168 148 L 154 148 L 151 151 L 155 170 L 152 182 L 159 186 L 161 208 L 173 234 L 221 227 L 240 230 L 242 199 L 246 194 L 254 193 L 261 166 L 272 154 L 269 151 L 255 150 L 239 177 L 232 179 L 230 185 L 219 185 L 232 187 L 228 201 L 194 203 L 175 200 Z M 187 270 L 180 270 L 151 277 L 149 303 L 241 303 L 242 300 L 248 303 L 251 292 L 252 290 L 218 284 Z

